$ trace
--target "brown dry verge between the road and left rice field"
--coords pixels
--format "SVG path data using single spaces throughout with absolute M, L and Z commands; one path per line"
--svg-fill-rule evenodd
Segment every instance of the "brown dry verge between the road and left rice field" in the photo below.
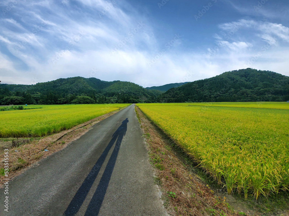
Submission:
M 122 107 L 121 109 L 124 109 Z M 72 141 L 78 139 L 83 134 L 85 134 L 91 126 L 100 122 L 101 120 L 108 118 L 114 113 L 120 111 L 116 110 L 105 115 L 99 116 L 88 122 L 80 124 L 71 128 L 70 130 L 65 130 L 57 134 L 52 134 L 43 138 L 31 138 L 27 143 L 21 143 L 21 140 L 27 138 L 3 138 L 0 139 L 0 170 L 3 172 L 4 168 L 4 149 L 9 149 L 9 176 L 5 177 L 1 175 L 0 177 L 0 187 L 3 187 L 4 179 L 13 179 L 15 176 L 21 174 L 24 170 L 30 166 L 36 166 L 37 162 L 42 158 L 45 158 L 69 145 Z M 16 141 L 19 147 L 12 148 L 12 141 Z

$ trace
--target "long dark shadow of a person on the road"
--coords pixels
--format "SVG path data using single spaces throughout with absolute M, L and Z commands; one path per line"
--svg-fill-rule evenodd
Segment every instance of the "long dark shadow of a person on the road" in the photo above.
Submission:
M 97 189 L 92 196 L 92 199 L 88 205 L 88 208 L 86 210 L 85 215 L 98 215 L 103 198 L 105 196 L 106 190 L 108 188 L 108 184 L 110 181 L 110 177 L 112 175 L 112 171 L 114 169 L 114 165 L 116 162 L 116 158 L 118 155 L 119 148 L 121 146 L 121 142 L 123 140 L 123 137 L 126 134 L 127 131 L 127 123 L 129 122 L 128 118 L 126 118 L 121 126 L 118 127 L 118 129 L 114 132 L 112 135 L 112 139 L 108 143 L 107 147 L 97 160 L 96 164 L 93 166 L 92 170 L 90 173 L 87 175 L 86 179 L 82 183 L 82 185 L 79 187 L 78 191 L 76 192 L 75 196 L 71 200 L 70 204 L 68 205 L 66 211 L 64 212 L 63 215 L 75 215 L 81 205 L 83 204 L 90 188 L 92 187 L 92 184 L 94 183 L 99 170 L 101 169 L 103 162 L 108 155 L 108 152 L 110 151 L 111 147 L 116 141 L 116 144 L 114 146 L 114 149 L 112 151 L 112 154 L 110 156 L 110 159 L 108 161 L 108 164 L 105 167 L 104 173 L 100 179 L 100 182 L 97 186 Z

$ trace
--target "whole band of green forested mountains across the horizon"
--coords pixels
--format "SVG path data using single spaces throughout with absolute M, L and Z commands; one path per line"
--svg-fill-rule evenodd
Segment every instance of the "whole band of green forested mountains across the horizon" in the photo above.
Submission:
M 123 81 L 71 77 L 35 85 L 0 84 L 1 105 L 289 101 L 289 77 L 242 69 L 176 88 L 143 88 Z M 160 90 L 162 91 L 160 91 Z M 164 92 L 164 93 L 162 93 Z

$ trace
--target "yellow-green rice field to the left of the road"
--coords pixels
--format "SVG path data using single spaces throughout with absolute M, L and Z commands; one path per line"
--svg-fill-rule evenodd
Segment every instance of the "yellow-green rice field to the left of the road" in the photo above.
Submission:
M 0 137 L 41 137 L 70 129 L 128 104 L 29 105 L 43 107 L 0 112 Z

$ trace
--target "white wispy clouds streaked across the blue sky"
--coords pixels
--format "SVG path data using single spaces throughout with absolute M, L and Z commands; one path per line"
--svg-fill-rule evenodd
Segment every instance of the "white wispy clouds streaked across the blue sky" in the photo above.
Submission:
M 7 3 L 1 1 L 0 7 Z M 188 74 L 193 81 L 244 68 L 267 44 L 270 48 L 252 67 L 289 75 L 284 57 L 289 29 L 283 24 L 253 18 L 221 23 L 221 32 L 212 33 L 212 43 L 203 44 L 208 50 L 202 50 L 186 47 L 190 34 L 172 42 L 177 30 L 163 40 L 162 30 L 152 23 L 123 0 L 18 0 L 0 18 L 1 81 L 31 84 L 89 77 L 92 70 L 102 80 L 144 87 L 184 82 Z M 160 52 L 161 58 L 149 65 Z

